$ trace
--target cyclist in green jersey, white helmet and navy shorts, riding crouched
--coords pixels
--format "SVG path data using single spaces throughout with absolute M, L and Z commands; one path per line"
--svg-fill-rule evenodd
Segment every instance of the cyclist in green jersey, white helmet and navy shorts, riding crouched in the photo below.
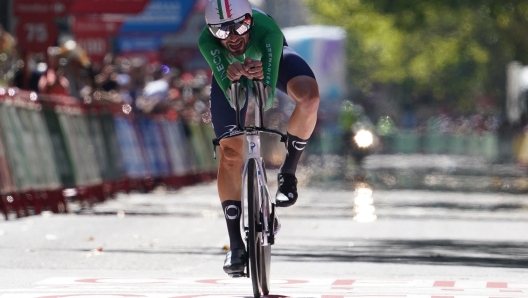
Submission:
M 278 173 L 278 207 L 297 201 L 295 172 L 299 158 L 313 132 L 319 108 L 319 88 L 308 64 L 286 43 L 277 23 L 248 0 L 209 0 L 205 9 L 207 25 L 199 47 L 213 72 L 211 118 L 216 136 L 236 128 L 236 115 L 227 89 L 232 81 L 245 77 L 261 80 L 266 86 L 265 109 L 275 97 L 275 89 L 296 103 L 287 126 L 287 153 Z M 244 124 L 247 104 L 241 110 Z M 246 250 L 240 233 L 244 138 L 236 136 L 220 142 L 218 194 L 224 210 L 230 250 L 224 262 L 229 275 L 241 275 Z

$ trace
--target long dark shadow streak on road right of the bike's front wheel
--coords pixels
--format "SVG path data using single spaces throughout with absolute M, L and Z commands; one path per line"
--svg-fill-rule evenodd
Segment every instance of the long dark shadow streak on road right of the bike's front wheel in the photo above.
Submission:
M 336 239 L 332 239 L 336 240 Z M 341 239 L 347 247 L 277 248 L 274 258 L 296 262 L 372 262 L 528 268 L 528 243 L 455 240 Z

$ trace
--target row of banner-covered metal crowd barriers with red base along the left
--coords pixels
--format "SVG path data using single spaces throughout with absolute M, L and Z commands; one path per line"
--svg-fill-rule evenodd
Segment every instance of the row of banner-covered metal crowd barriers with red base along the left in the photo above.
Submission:
M 216 177 L 210 125 L 127 114 L 0 88 L 0 212 L 5 219 L 69 203 L 90 207 L 118 193 L 179 188 Z

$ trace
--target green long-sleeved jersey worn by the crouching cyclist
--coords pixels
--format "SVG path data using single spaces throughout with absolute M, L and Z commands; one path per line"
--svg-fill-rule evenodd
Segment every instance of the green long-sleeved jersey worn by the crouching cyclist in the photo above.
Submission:
M 213 75 L 220 88 L 224 91 L 226 98 L 229 98 L 226 90 L 231 84 L 227 77 L 227 67 L 235 61 L 244 62 L 245 58 L 262 61 L 264 70 L 264 84 L 271 88 L 269 97 L 266 100 L 266 109 L 273 104 L 275 97 L 275 87 L 279 74 L 279 62 L 282 56 L 284 36 L 277 23 L 268 15 L 253 9 L 253 28 L 250 35 L 246 52 L 238 57 L 233 56 L 215 38 L 207 26 L 202 30 L 198 45 L 205 60 L 209 63 Z

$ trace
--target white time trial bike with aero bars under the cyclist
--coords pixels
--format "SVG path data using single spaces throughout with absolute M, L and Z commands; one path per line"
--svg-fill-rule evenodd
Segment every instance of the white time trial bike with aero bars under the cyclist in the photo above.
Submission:
M 242 80 L 241 80 L 242 81 Z M 261 81 L 250 82 L 243 79 L 232 82 L 228 89 L 228 95 L 236 110 L 236 128 L 230 132 L 213 139 L 215 158 L 216 147 L 225 138 L 245 135 L 247 150 L 245 150 L 246 162 L 242 171 L 242 215 L 240 228 L 245 235 L 248 260 L 245 272 L 238 276 L 251 278 L 253 284 L 253 295 L 259 298 L 268 295 L 270 291 L 270 262 L 271 245 L 275 243 L 276 206 L 275 196 L 272 196 L 267 185 L 267 176 L 264 159 L 261 156 L 260 134 L 268 133 L 280 136 L 280 141 L 286 143 L 286 135 L 278 130 L 268 129 L 264 126 L 264 105 L 267 98 L 267 90 Z M 254 125 L 242 126 L 240 110 L 244 104 L 249 104 L 250 90 L 252 98 L 255 99 L 255 123 Z

